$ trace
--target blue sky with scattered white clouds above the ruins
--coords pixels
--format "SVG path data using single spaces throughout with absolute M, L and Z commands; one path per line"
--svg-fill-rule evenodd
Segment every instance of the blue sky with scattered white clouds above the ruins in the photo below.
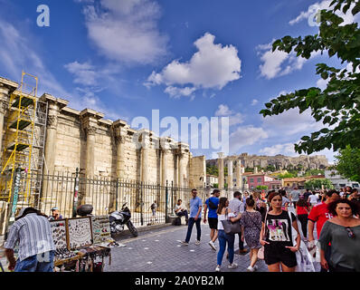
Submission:
M 19 81 L 22 70 L 35 74 L 40 94 L 112 121 L 151 121 L 152 110 L 179 122 L 229 117 L 230 154 L 295 156 L 293 143 L 322 124 L 308 111 L 265 119 L 259 111 L 280 93 L 324 86 L 315 64 L 327 53 L 302 60 L 270 52 L 280 37 L 317 33 L 308 24 L 315 3 L 0 0 L 0 76 Z M 38 5 L 49 6 L 50 27 L 36 24 Z M 216 150 L 192 151 L 211 158 Z M 333 160 L 331 150 L 320 153 Z

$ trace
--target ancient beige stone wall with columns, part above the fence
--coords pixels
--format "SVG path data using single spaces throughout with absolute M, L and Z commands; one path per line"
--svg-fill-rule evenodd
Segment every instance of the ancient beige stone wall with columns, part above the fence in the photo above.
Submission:
M 10 95 L 17 87 L 18 83 L 0 77 L 1 151 L 4 117 Z M 71 109 L 68 101 L 48 93 L 39 100 L 48 103 L 44 175 L 74 173 L 79 168 L 86 177 L 136 180 L 162 186 L 167 180 L 174 187 L 204 187 L 204 156 L 193 157 L 188 144 L 171 138 L 160 139 L 152 131 L 133 130 L 126 121 L 104 120 L 104 114 L 99 111 Z M 49 197 L 46 203 L 55 206 L 59 202 L 50 198 L 56 190 L 43 180 L 43 197 Z M 86 189 L 84 193 L 86 197 Z

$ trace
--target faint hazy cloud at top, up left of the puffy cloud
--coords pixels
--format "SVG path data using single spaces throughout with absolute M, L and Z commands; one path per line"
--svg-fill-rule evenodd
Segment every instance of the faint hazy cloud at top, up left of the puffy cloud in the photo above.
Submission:
M 100 0 L 84 8 L 90 40 L 99 53 L 121 63 L 155 63 L 166 54 L 160 7 L 152 0 Z

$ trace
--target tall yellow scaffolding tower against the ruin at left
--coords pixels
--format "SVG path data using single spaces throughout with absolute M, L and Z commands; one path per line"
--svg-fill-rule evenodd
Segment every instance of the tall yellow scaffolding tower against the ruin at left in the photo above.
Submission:
M 25 83 L 25 77 L 33 78 L 35 85 Z M 36 76 L 22 72 L 20 87 L 10 96 L 1 169 L 1 174 L 9 176 L 9 179 L 0 180 L 0 199 L 7 202 L 11 201 L 13 195 L 14 172 L 18 168 L 25 172 L 24 186 L 19 191 L 19 198 L 24 198 L 25 201 L 30 195 L 37 86 Z

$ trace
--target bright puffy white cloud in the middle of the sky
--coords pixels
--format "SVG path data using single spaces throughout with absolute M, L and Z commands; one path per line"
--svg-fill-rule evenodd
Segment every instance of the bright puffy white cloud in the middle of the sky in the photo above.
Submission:
M 204 34 L 195 41 L 198 52 L 189 62 L 175 60 L 167 64 L 161 73 L 151 73 L 145 85 L 192 84 L 196 89 L 222 90 L 227 83 L 240 79 L 242 62 L 237 49 L 232 45 L 215 44 L 214 39 L 213 34 Z

